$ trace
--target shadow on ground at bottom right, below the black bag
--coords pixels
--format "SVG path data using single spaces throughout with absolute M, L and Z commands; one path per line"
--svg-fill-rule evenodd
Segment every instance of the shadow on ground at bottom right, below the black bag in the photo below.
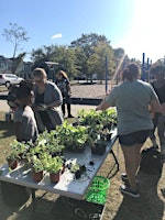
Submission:
M 164 202 L 157 195 L 160 178 L 161 174 L 152 175 L 140 172 L 139 187 L 141 197 L 135 199 L 124 196 L 113 220 L 162 220 Z

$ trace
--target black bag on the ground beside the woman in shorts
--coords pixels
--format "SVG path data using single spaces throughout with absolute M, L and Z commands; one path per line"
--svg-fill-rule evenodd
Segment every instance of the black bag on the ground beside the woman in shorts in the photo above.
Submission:
M 153 147 L 144 148 L 142 151 L 140 170 L 147 174 L 161 174 L 163 166 L 163 164 L 161 163 L 161 158 L 162 156 L 158 151 L 154 150 Z

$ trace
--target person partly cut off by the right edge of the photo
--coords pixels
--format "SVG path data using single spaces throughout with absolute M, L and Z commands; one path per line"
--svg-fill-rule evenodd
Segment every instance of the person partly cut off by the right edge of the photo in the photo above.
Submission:
M 155 64 L 150 68 L 150 75 L 153 75 L 155 80 L 152 86 L 160 99 L 161 105 L 165 103 L 165 65 Z M 161 154 L 165 158 L 165 117 L 156 112 L 153 116 L 154 129 L 151 132 L 150 139 L 152 141 L 153 147 L 158 148 L 156 142 L 155 130 L 157 128 L 157 134 L 161 145 Z

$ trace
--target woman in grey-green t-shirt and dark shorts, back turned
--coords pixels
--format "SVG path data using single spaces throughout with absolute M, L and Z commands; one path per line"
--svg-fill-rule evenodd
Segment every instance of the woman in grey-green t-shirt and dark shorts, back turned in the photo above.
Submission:
M 148 82 L 139 79 L 140 66 L 129 63 L 122 72 L 123 81 L 114 87 L 96 110 L 117 107 L 118 138 L 124 155 L 125 173 L 121 175 L 122 194 L 140 197 L 136 174 L 141 163 L 141 148 L 153 129 L 151 111 L 162 111 L 158 98 Z

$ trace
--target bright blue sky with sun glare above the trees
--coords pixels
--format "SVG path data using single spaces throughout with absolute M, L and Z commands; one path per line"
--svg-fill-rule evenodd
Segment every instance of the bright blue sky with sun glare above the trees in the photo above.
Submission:
M 130 58 L 156 62 L 165 55 L 164 0 L 8 0 L 0 7 L 0 55 L 12 57 L 13 45 L 3 34 L 9 23 L 22 26 L 30 37 L 21 52 L 43 45 L 69 45 L 81 34 L 105 35 L 112 48 Z

